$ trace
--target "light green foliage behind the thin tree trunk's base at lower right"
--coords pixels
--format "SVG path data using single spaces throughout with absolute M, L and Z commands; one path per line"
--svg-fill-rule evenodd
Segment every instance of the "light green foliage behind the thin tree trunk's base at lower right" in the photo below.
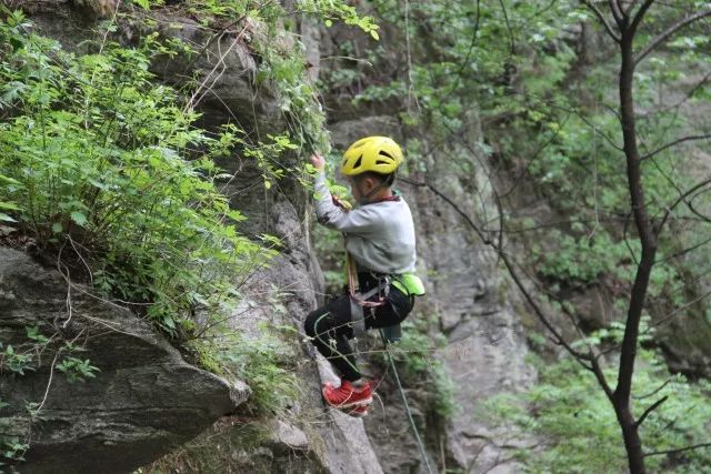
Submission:
M 644 324 L 643 324 L 644 325 Z M 620 341 L 624 327 L 613 324 L 593 333 L 584 344 L 600 345 Z M 649 340 L 651 332 L 642 327 Z M 580 344 L 583 344 L 581 341 Z M 610 401 L 592 374 L 571 357 L 551 364 L 533 357 L 539 370 L 538 383 L 520 395 L 495 396 L 478 416 L 492 423 L 505 423 L 521 435 L 542 443 L 520 450 L 517 456 L 528 472 L 607 473 L 627 468 L 627 456 Z M 614 381 L 613 361 L 605 369 Z M 637 416 L 655 401 L 669 399 L 644 421 L 640 435 L 647 452 L 685 447 L 708 441 L 711 384 L 691 382 L 681 374 L 670 374 L 664 362 L 651 350 L 639 349 L 634 373 L 633 410 Z M 648 468 L 654 472 L 701 473 L 711 462 L 708 448 L 673 456 L 649 456 Z

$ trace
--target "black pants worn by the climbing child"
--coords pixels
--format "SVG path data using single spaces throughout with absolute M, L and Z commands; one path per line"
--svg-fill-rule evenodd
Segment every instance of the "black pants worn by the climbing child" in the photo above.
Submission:
M 365 329 L 399 324 L 412 311 L 413 300 L 413 296 L 408 296 L 391 286 L 383 305 L 372 310 L 363 307 Z M 354 337 L 350 294 L 342 294 L 309 313 L 303 326 L 313 345 L 343 379 L 352 382 L 361 377 L 356 354 L 349 343 L 349 340 Z

